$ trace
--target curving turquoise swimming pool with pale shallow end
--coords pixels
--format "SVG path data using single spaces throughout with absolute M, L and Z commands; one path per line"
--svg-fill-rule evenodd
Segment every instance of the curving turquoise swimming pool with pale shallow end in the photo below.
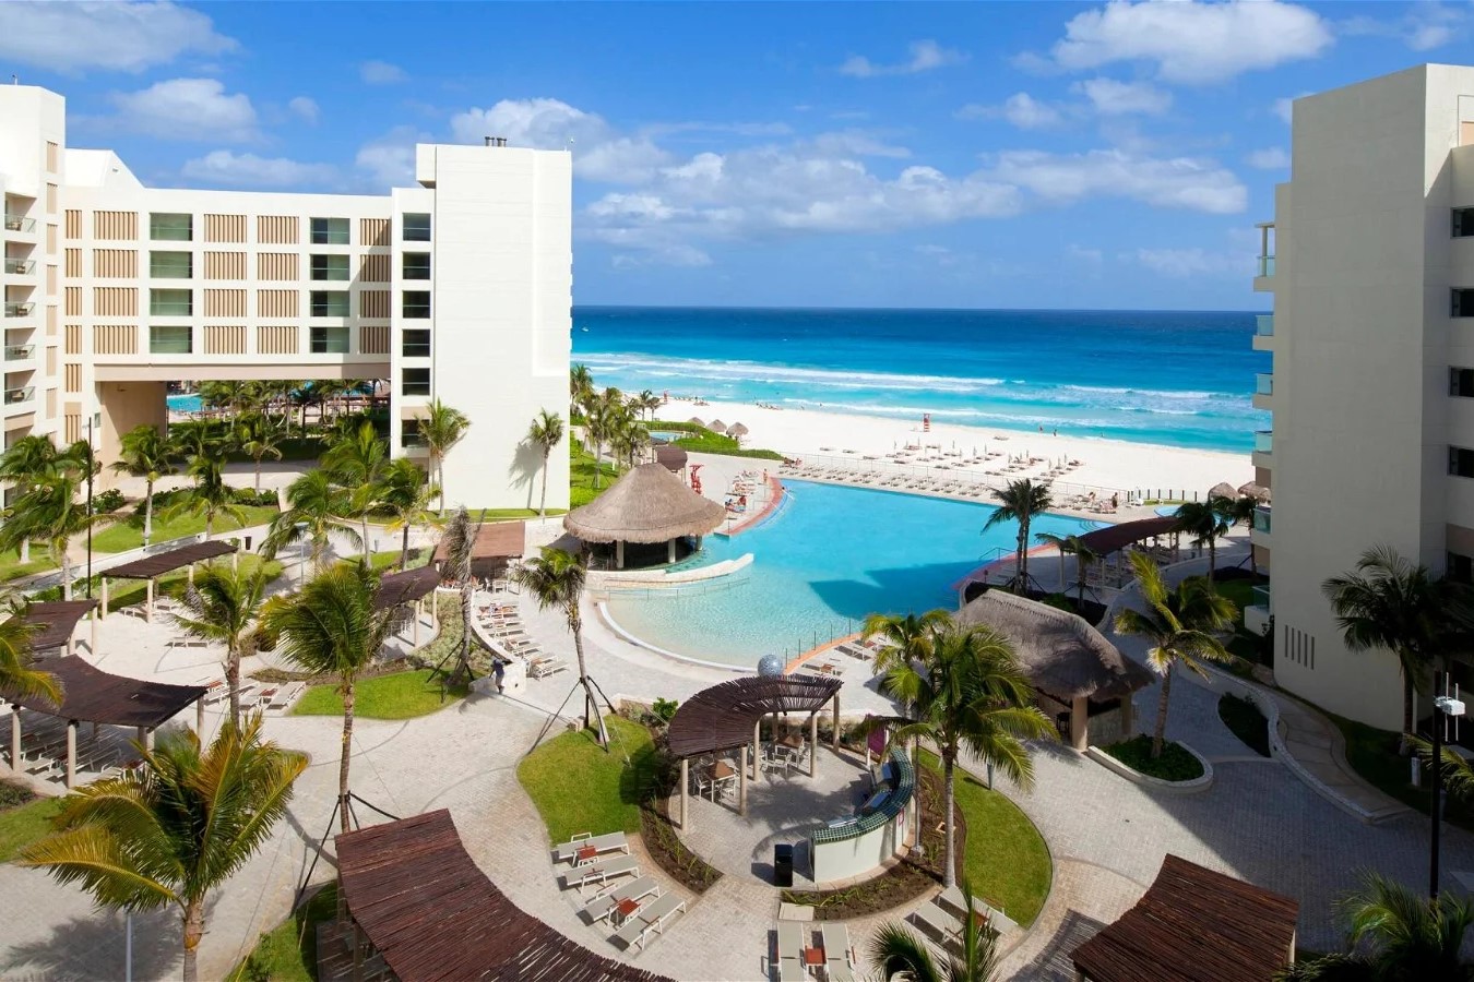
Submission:
M 635 637 L 677 655 L 753 665 L 787 658 L 858 630 L 876 611 L 955 610 L 949 587 L 964 573 L 1013 551 L 1017 526 L 982 533 L 991 505 L 868 487 L 786 481 L 792 499 L 756 529 L 708 536 L 697 562 L 747 552 L 747 568 L 706 583 L 615 592 L 609 612 Z M 1041 515 L 1033 531 L 1077 534 L 1080 518 Z

